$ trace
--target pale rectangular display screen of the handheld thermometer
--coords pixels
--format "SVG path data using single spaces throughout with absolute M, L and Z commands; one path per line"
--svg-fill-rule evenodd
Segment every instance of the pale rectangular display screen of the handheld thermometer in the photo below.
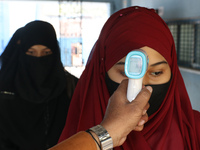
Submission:
M 142 57 L 134 55 L 130 57 L 129 62 L 129 74 L 131 75 L 140 75 L 142 72 Z

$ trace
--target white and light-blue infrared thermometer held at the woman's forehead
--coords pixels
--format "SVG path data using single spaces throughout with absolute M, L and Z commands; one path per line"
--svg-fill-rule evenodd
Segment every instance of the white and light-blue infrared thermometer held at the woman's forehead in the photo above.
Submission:
M 143 77 L 148 68 L 148 56 L 144 50 L 131 51 L 126 56 L 124 70 L 129 78 L 127 99 L 131 102 L 142 89 Z

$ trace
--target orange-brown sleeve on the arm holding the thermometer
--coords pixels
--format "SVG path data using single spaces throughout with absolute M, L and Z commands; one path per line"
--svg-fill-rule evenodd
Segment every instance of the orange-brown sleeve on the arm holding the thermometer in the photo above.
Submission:
M 80 131 L 49 150 L 97 150 L 93 138 L 85 131 Z

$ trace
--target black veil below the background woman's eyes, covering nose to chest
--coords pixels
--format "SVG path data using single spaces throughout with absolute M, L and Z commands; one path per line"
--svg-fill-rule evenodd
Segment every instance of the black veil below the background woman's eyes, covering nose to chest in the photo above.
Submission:
M 65 82 L 63 67 L 54 65 L 56 59 L 53 55 L 45 57 L 24 55 L 21 60 L 24 63 L 19 64 L 15 77 L 16 91 L 21 98 L 40 103 L 57 97 L 63 91 L 66 86 L 63 84 Z

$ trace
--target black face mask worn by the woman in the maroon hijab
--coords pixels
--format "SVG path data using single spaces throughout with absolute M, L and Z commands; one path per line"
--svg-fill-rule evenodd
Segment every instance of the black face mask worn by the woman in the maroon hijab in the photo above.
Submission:
M 171 79 L 172 79 L 172 77 L 171 77 Z M 167 83 L 164 83 L 164 84 L 145 85 L 145 86 L 151 86 L 153 88 L 153 92 L 149 99 L 150 107 L 147 110 L 148 116 L 152 115 L 159 109 L 160 105 L 162 104 L 163 100 L 165 99 L 165 96 L 167 94 L 168 88 L 171 83 L 171 79 Z M 108 88 L 108 92 L 111 96 L 115 92 L 117 87 L 119 86 L 119 83 L 112 81 L 109 78 L 107 73 L 105 76 L 105 81 L 106 81 L 106 86 Z

